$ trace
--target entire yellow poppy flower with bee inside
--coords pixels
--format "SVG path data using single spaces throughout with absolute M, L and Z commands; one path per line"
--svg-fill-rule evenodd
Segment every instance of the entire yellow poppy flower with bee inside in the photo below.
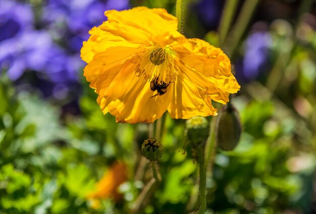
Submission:
M 104 13 L 83 42 L 84 76 L 104 114 L 117 122 L 153 122 L 216 115 L 212 100 L 226 104 L 240 86 L 219 48 L 177 31 L 165 9 L 137 7 Z

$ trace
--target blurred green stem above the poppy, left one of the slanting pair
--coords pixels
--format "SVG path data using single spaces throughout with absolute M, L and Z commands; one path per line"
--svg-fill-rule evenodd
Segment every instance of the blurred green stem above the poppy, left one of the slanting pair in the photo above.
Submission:
M 223 45 L 226 39 L 228 30 L 231 26 L 238 3 L 239 3 L 239 0 L 228 0 L 225 4 L 223 15 L 220 22 L 220 27 L 219 27 L 219 39 L 220 39 L 221 46 Z

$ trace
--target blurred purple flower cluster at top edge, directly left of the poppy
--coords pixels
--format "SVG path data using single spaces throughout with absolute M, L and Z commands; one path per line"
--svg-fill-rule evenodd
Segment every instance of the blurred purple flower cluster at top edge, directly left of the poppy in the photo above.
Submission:
M 88 31 L 106 21 L 104 11 L 128 7 L 128 0 L 49 0 L 43 8 L 43 21 L 52 31 L 59 31 L 59 38 L 67 37 L 72 51 L 79 52 Z

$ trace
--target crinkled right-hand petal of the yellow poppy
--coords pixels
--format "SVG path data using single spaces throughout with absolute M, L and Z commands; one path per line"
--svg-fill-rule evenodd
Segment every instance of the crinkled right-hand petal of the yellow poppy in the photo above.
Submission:
M 178 67 L 212 100 L 226 104 L 229 94 L 240 89 L 231 73 L 230 60 L 221 49 L 201 39 L 187 39 L 183 44 L 175 44 L 173 51 L 179 58 Z

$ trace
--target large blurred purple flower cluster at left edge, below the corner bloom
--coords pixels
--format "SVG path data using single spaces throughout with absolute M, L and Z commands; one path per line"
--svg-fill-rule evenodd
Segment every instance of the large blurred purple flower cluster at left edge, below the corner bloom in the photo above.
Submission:
M 8 69 L 8 76 L 13 80 L 18 79 L 25 70 L 45 72 L 52 81 L 74 79 L 75 73 L 67 75 L 68 56 L 46 31 L 29 31 L 6 39 L 0 44 L 0 53 L 0 65 Z M 74 69 L 79 69 L 79 66 Z M 57 80 L 54 74 L 61 71 L 66 75 Z

